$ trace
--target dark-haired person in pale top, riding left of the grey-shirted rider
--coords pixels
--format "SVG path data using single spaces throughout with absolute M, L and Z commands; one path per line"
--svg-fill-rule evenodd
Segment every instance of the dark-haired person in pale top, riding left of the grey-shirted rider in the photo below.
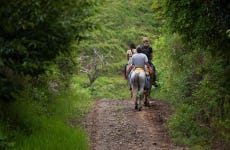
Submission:
M 125 79 L 127 79 L 127 77 L 128 77 L 128 74 L 126 73 L 126 68 L 127 68 L 128 65 L 131 65 L 131 58 L 132 58 L 132 56 L 133 56 L 134 54 L 137 53 L 137 51 L 136 51 L 136 46 L 135 46 L 134 43 L 130 43 L 130 44 L 129 44 L 129 48 L 130 48 L 130 49 L 127 50 L 127 52 L 126 52 L 126 58 L 127 58 L 127 60 L 128 60 L 128 63 L 125 64 L 125 67 L 124 67 L 124 76 L 125 76 Z

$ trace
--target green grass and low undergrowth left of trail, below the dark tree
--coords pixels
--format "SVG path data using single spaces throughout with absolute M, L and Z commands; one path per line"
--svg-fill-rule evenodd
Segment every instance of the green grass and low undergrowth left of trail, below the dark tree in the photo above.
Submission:
M 73 79 L 65 91 L 48 92 L 46 87 L 27 87 L 11 102 L 0 123 L 0 148 L 17 150 L 88 150 L 85 129 L 71 124 L 90 111 L 93 104 L 81 79 Z M 6 121 L 5 121 L 6 122 Z

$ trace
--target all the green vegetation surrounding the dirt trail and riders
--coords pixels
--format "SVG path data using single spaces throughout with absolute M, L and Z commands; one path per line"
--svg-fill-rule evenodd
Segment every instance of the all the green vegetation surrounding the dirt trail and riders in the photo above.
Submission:
M 171 137 L 194 149 L 230 143 L 227 0 L 11 0 L 0 6 L 0 148 L 89 149 L 71 121 L 98 98 L 129 98 L 128 44 L 148 36 L 176 108 Z M 65 148 L 63 148 L 65 147 Z

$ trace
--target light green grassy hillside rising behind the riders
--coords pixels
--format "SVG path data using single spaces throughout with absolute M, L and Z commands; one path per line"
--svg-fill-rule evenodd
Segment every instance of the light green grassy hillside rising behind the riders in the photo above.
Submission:
M 153 34 L 157 31 L 152 26 L 155 21 L 151 4 L 151 1 L 141 0 L 105 0 L 103 5 L 97 7 L 97 15 L 92 17 L 100 28 L 88 32 L 87 38 L 77 48 L 83 52 L 82 55 L 88 56 L 92 49 L 96 49 L 98 53 L 108 56 L 104 60 L 108 64 L 104 66 L 108 70 L 106 74 L 117 74 L 126 63 L 125 53 L 130 42 L 140 45 L 142 36 L 149 36 L 152 40 L 155 38 Z M 143 22 L 148 25 L 143 26 Z

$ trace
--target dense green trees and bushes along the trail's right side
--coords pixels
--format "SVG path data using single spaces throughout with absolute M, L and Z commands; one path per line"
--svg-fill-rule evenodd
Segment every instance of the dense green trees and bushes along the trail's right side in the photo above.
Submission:
M 229 146 L 229 5 L 215 0 L 153 5 L 165 25 L 155 45 L 161 50 L 156 92 L 177 108 L 168 123 L 177 142 Z

